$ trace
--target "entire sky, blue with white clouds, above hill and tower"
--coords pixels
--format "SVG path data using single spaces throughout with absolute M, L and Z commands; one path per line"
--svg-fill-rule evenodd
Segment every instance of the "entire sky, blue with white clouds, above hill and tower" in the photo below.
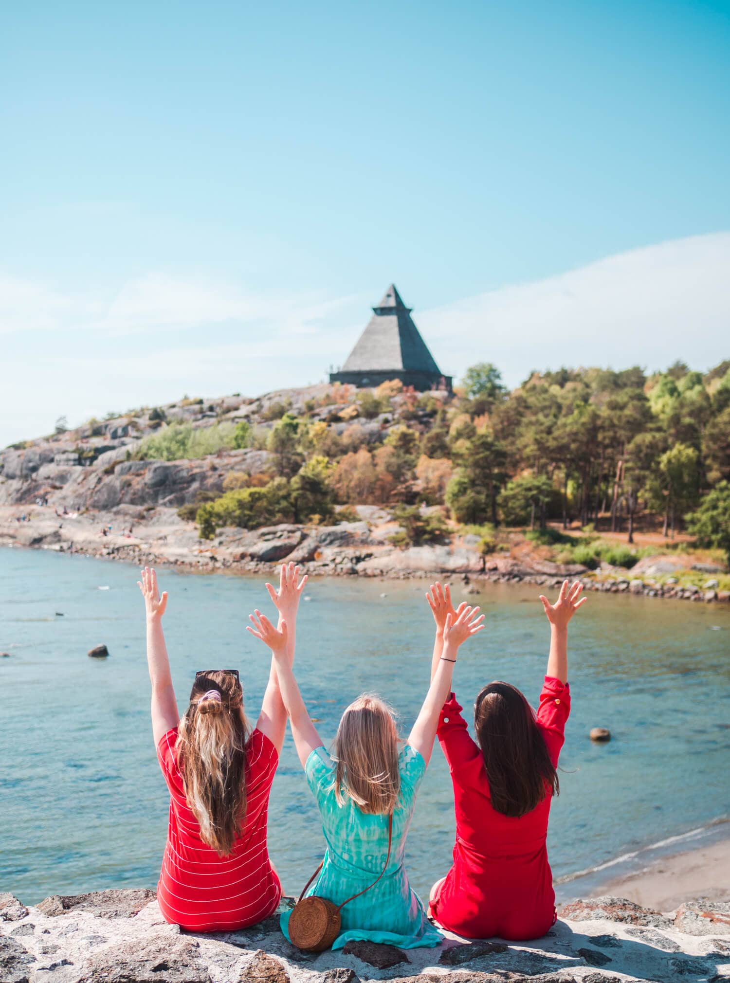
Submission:
M 0 444 L 315 381 L 391 280 L 457 376 L 730 356 L 728 50 L 728 3 L 3 5 Z

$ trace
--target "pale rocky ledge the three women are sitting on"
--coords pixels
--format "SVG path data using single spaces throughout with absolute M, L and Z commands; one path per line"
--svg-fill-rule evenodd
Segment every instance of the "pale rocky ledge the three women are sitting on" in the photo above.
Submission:
M 284 904 L 291 904 L 285 898 Z M 447 979 L 446 979 L 447 978 Z M 671 914 L 620 897 L 563 908 L 533 943 L 468 941 L 404 952 L 356 942 L 300 953 L 272 916 L 242 932 L 183 933 L 154 893 L 101 891 L 36 906 L 0 895 L 2 983 L 661 983 L 730 981 L 730 903 L 702 901 Z

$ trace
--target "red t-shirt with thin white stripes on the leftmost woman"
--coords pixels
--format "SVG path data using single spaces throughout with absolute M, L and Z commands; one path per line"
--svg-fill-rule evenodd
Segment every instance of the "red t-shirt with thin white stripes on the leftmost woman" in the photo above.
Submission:
M 170 821 L 157 900 L 166 921 L 195 932 L 230 932 L 272 914 L 281 884 L 268 858 L 268 795 L 279 756 L 260 730 L 246 749 L 246 821 L 229 856 L 200 839 L 175 754 L 177 728 L 157 745 L 162 774 L 170 791 Z

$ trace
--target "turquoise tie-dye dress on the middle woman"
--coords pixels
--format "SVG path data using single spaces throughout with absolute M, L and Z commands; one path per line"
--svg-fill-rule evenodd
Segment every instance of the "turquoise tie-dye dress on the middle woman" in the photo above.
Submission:
M 383 877 L 361 897 L 341 910 L 342 931 L 332 949 L 342 949 L 351 939 L 390 943 L 401 949 L 438 946 L 440 933 L 426 918 L 421 898 L 413 891 L 404 867 L 406 837 L 411 825 L 416 793 L 425 774 L 425 762 L 408 744 L 399 757 L 401 794 L 393 813 L 393 842 Z M 305 767 L 312 794 L 319 806 L 327 843 L 324 863 L 308 895 L 326 897 L 340 904 L 371 884 L 385 865 L 388 854 L 388 817 L 362 812 L 347 798 L 335 798 L 335 765 L 323 747 L 315 748 Z M 281 916 L 287 930 L 290 912 Z M 291 940 L 290 940 L 291 941 Z

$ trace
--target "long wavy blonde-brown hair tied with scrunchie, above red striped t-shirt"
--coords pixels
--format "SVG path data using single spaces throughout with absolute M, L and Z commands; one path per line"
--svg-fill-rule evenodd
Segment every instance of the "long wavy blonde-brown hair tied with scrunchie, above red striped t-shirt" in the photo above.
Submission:
M 217 691 L 220 699 L 208 697 Z M 197 676 L 190 706 L 178 727 L 176 750 L 188 805 L 200 839 L 219 856 L 233 851 L 246 817 L 244 692 L 231 672 Z

